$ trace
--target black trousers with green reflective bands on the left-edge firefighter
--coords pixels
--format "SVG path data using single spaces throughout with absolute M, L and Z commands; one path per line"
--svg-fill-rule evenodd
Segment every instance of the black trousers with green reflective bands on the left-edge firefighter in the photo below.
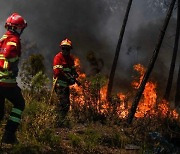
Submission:
M 5 99 L 8 99 L 13 104 L 5 131 L 15 133 L 20 124 L 21 114 L 25 107 L 21 89 L 18 86 L 0 87 L 0 120 L 4 117 Z

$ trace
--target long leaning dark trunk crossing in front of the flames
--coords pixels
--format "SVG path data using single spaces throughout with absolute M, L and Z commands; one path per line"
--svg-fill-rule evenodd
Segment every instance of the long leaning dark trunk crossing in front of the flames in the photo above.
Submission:
M 159 50 L 161 48 L 161 45 L 162 45 L 162 41 L 164 39 L 164 35 L 165 35 L 165 32 L 166 32 L 166 29 L 167 29 L 167 26 L 169 24 L 169 20 L 171 18 L 171 14 L 172 14 L 172 11 L 173 11 L 173 8 L 174 8 L 174 5 L 175 5 L 175 2 L 176 0 L 172 0 L 171 1 L 171 4 L 170 4 L 170 7 L 169 7 L 169 10 L 167 12 L 167 15 L 166 15 L 166 18 L 165 18 L 165 21 L 164 21 L 164 25 L 162 27 L 162 31 L 159 35 L 159 39 L 158 39 L 158 43 L 156 44 L 156 47 L 154 49 L 154 52 L 153 52 L 153 56 L 152 58 L 150 59 L 150 62 L 149 62 L 149 65 L 148 65 L 148 68 L 147 68 L 147 71 L 145 72 L 144 74 L 144 77 L 143 77 L 143 80 L 141 82 L 141 85 L 137 91 L 137 94 L 134 98 L 134 101 L 133 101 L 133 104 L 132 104 L 132 107 L 131 107 L 131 110 L 130 110 L 130 113 L 128 115 L 128 123 L 130 124 L 134 118 L 134 114 L 136 112 L 136 109 L 137 109 L 137 106 L 139 104 L 139 100 L 142 96 L 142 93 L 144 91 L 144 88 L 145 88 L 145 85 L 147 83 L 147 80 L 149 79 L 149 76 L 154 68 L 154 64 L 156 62 L 156 59 L 158 57 L 158 54 L 159 54 Z

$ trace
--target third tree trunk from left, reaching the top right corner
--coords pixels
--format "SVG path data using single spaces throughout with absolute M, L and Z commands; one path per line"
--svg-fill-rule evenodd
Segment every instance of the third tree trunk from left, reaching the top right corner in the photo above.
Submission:
M 180 34 L 180 16 L 179 16 L 180 10 L 179 9 L 180 9 L 180 2 L 178 0 L 176 36 L 175 36 L 173 56 L 172 56 L 172 60 L 171 60 L 171 67 L 170 67 L 170 71 L 169 71 L 168 82 L 167 82 L 166 91 L 164 94 L 164 99 L 166 99 L 167 101 L 169 100 L 169 96 L 170 96 L 170 92 L 171 92 L 173 76 L 174 76 L 174 68 L 175 68 L 177 51 L 178 51 L 179 34 Z

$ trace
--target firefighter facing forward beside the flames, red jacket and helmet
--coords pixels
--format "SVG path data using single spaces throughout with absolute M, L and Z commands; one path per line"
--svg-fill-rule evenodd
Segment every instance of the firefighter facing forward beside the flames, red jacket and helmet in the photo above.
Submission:
M 59 99 L 58 109 L 63 121 L 70 108 L 69 86 L 75 84 L 78 74 L 74 66 L 74 58 L 70 54 L 72 43 L 69 39 L 60 42 L 61 51 L 54 57 L 53 81 L 55 92 Z

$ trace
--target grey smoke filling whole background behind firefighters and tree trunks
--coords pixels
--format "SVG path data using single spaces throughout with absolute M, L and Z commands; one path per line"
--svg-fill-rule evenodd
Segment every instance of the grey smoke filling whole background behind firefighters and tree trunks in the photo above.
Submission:
M 133 64 L 147 66 L 165 18 L 167 5 L 163 2 L 133 1 L 116 72 L 117 87 L 124 88 L 130 84 Z M 73 42 L 72 53 L 80 58 L 86 73 L 90 70 L 86 54 L 94 51 L 98 58 L 104 60 L 103 73 L 108 75 L 126 7 L 127 0 L 1 0 L 0 34 L 4 33 L 5 19 L 11 13 L 18 12 L 28 22 L 22 40 L 26 44 L 34 43 L 38 48 L 27 50 L 26 54 L 42 53 L 49 74 L 52 74 L 52 60 L 59 51 L 59 42 L 68 37 Z M 170 46 L 172 41 L 168 38 L 175 33 L 174 28 L 171 24 L 166 36 Z M 163 51 L 154 76 L 165 79 L 172 49 L 164 44 Z M 158 68 L 163 71 L 160 75 Z M 125 86 L 120 81 L 125 81 Z

